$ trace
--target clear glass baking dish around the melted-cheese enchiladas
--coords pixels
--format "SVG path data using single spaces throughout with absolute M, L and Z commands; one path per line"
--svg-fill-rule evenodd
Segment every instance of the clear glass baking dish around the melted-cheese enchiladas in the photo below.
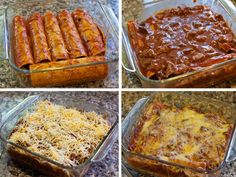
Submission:
M 140 115 L 142 115 L 147 105 L 149 105 L 149 103 L 151 103 L 153 99 L 158 99 L 161 103 L 165 103 L 167 105 L 177 105 L 177 107 L 189 106 L 191 108 L 197 108 L 200 109 L 201 112 L 214 111 L 214 113 L 224 115 L 227 121 L 234 124 L 228 146 L 226 147 L 224 160 L 221 162 L 218 168 L 211 171 L 200 170 L 197 168 L 161 160 L 157 157 L 136 154 L 128 149 L 134 127 L 137 126 L 138 120 L 141 117 Z M 148 98 L 140 99 L 122 122 L 122 156 L 124 159 L 123 163 L 129 168 L 134 169 L 135 171 L 154 176 L 170 177 L 171 175 L 168 174 L 167 169 L 171 168 L 176 169 L 178 172 L 186 172 L 185 175 L 182 173 L 181 177 L 219 177 L 221 169 L 227 163 L 236 160 L 235 113 L 236 109 L 234 104 L 229 104 L 201 96 L 190 96 L 183 93 L 162 92 L 155 93 Z M 149 166 L 150 164 L 151 166 Z M 158 170 L 160 170 L 160 168 L 166 169 L 166 173 L 158 174 Z M 186 174 L 190 174 L 190 176 L 187 176 Z

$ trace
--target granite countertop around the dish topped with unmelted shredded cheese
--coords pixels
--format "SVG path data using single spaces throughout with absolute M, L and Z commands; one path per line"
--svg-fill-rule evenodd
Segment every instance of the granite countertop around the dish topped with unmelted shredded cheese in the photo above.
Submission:
M 3 117 L 10 109 L 20 103 L 29 95 L 39 94 L 39 92 L 0 92 L 0 117 Z M 57 102 L 66 101 L 66 97 L 74 97 L 77 100 L 100 105 L 104 108 L 113 110 L 118 114 L 118 92 L 60 92 L 64 100 L 57 99 L 55 93 L 47 93 L 48 97 Z M 59 104 L 59 103 L 58 103 Z M 118 177 L 118 140 L 110 149 L 105 158 L 96 163 L 92 163 L 86 177 Z M 25 168 L 23 165 L 15 163 L 8 159 L 6 153 L 2 153 L 0 148 L 0 176 L 1 177 L 45 177 L 36 172 Z

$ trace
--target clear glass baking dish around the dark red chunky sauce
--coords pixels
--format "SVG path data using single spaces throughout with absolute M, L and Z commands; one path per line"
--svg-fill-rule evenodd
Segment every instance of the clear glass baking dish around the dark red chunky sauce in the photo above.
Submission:
M 171 77 L 163 80 L 151 80 L 145 77 L 138 66 L 137 58 L 132 50 L 128 33 L 127 22 L 129 20 L 137 19 L 143 21 L 152 16 L 158 11 L 176 8 L 178 6 L 195 6 L 195 5 L 207 5 L 211 7 L 214 12 L 221 14 L 228 25 L 231 27 L 234 34 L 236 34 L 236 7 L 228 0 L 148 0 L 143 3 L 143 10 L 138 14 L 134 14 L 134 17 L 124 17 L 123 15 L 123 33 L 122 40 L 123 46 L 126 50 L 127 61 L 122 61 L 123 68 L 128 72 L 133 72 L 137 75 L 142 83 L 143 87 L 209 87 L 214 84 L 220 83 L 227 79 L 233 78 L 236 75 L 236 59 L 231 59 L 216 65 L 212 65 L 206 68 L 202 68 L 197 71 L 188 72 L 179 76 Z M 125 12 L 124 12 L 125 13 Z

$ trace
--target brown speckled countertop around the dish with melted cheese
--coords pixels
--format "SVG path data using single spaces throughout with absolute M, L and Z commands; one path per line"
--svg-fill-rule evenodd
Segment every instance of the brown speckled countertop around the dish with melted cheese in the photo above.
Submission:
M 125 118 L 125 116 L 129 113 L 131 108 L 139 99 L 148 97 L 152 93 L 153 92 L 123 92 L 122 93 L 122 118 Z M 204 97 L 210 97 L 217 100 L 236 104 L 236 92 L 185 92 L 185 93 L 193 94 L 193 95 L 200 95 Z M 143 175 L 137 175 L 137 176 L 144 177 Z M 226 167 L 223 168 L 221 177 L 236 177 L 236 161 L 231 164 L 226 165 Z

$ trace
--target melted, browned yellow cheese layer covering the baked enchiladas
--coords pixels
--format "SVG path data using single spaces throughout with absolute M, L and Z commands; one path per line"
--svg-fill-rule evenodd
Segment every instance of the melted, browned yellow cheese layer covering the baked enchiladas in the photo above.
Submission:
M 149 106 L 132 151 L 182 165 L 214 169 L 223 161 L 232 124 L 190 108 Z

